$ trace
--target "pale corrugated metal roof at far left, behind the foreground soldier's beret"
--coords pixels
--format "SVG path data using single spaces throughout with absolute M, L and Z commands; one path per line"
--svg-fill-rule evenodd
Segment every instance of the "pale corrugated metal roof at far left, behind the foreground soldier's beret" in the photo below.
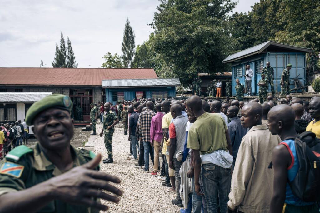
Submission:
M 0 103 L 7 102 L 36 102 L 52 92 L 0 92 Z

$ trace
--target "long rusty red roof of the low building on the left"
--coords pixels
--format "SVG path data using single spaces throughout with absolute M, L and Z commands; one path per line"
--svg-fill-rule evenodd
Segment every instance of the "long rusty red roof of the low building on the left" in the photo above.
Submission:
M 0 68 L 2 85 L 97 85 L 102 80 L 158 78 L 153 69 Z

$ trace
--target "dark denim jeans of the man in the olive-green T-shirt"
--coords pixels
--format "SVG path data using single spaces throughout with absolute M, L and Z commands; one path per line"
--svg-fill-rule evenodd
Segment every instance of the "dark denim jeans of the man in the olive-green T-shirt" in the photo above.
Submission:
M 213 163 L 203 164 L 201 167 L 201 177 L 208 212 L 218 212 L 218 205 L 221 212 L 227 212 L 228 195 L 231 187 L 231 168 L 224 169 Z

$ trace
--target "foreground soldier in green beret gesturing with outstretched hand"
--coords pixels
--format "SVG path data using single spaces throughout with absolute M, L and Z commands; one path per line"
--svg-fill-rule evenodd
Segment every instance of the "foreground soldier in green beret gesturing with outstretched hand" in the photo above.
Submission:
M 101 190 L 122 194 L 109 184 L 120 183 L 117 177 L 98 171 L 101 154 L 70 145 L 71 108 L 68 96 L 53 94 L 28 109 L 26 123 L 39 142 L 16 147 L 0 162 L 1 213 L 98 213 L 107 209 L 100 198 L 119 201 Z

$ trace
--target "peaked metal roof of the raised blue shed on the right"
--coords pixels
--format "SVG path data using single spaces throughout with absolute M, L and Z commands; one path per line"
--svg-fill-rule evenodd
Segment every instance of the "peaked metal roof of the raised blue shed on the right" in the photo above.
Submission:
M 304 47 L 297 47 L 297 46 L 292 46 L 292 45 L 288 45 L 288 44 L 283 44 L 283 43 L 278 43 L 278 42 L 273 42 L 273 41 L 267 41 L 264 43 L 260 43 L 256 46 L 250 47 L 248 49 L 245 49 L 243 51 L 240 52 L 236 52 L 232 55 L 229 55 L 227 58 L 225 58 L 222 63 L 228 63 L 228 62 L 232 62 L 235 61 L 237 59 L 240 58 L 244 58 L 247 56 L 251 56 L 254 54 L 259 54 L 262 51 L 264 51 L 268 46 L 273 45 L 276 47 L 281 47 L 281 48 L 286 48 L 286 49 L 290 49 L 290 50 L 297 50 L 297 51 L 304 51 L 304 52 L 311 52 L 312 49 L 309 48 L 304 48 Z

